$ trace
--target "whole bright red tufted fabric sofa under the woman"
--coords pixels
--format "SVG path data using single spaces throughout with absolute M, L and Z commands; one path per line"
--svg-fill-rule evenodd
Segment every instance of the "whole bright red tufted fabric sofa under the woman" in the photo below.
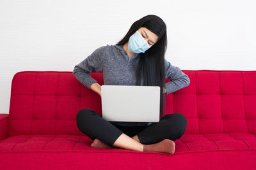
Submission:
M 255 169 L 256 71 L 184 73 L 190 85 L 166 96 L 164 115 L 188 120 L 173 154 L 90 148 L 76 114 L 101 114 L 100 96 L 72 72 L 16 73 L 0 115 L 0 169 Z M 90 75 L 104 83 L 102 72 Z

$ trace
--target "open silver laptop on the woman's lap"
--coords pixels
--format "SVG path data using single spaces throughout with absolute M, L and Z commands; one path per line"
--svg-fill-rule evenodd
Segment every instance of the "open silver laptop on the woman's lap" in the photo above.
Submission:
M 160 87 L 102 85 L 102 118 L 111 122 L 159 122 Z

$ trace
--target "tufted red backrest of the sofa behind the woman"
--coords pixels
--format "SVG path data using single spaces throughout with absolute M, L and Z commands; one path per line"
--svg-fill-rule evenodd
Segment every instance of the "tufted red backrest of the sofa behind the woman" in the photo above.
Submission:
M 256 71 L 183 71 L 188 87 L 166 96 L 166 112 L 182 113 L 185 134 L 256 132 Z M 102 72 L 90 73 L 103 85 Z M 170 81 L 166 79 L 166 83 Z M 21 71 L 13 76 L 8 136 L 84 135 L 76 114 L 90 108 L 102 115 L 100 96 L 70 71 Z

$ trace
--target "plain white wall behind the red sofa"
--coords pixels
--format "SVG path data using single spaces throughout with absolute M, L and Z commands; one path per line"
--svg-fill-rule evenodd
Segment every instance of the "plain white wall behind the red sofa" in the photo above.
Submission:
M 253 0 L 1 0 L 0 113 L 9 111 L 15 73 L 72 71 L 148 14 L 166 22 L 166 59 L 180 69 L 256 70 L 255 6 Z

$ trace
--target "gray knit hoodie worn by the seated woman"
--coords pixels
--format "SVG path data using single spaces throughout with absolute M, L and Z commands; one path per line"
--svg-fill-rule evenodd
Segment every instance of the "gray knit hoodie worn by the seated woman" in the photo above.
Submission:
M 100 46 L 74 67 L 73 74 L 77 80 L 90 89 L 97 80 L 89 73 L 102 71 L 104 85 L 136 85 L 136 66 L 138 65 L 138 53 L 134 53 L 129 59 L 122 45 Z M 180 71 L 179 67 L 173 66 L 164 59 L 165 78 L 171 81 L 165 83 L 167 93 L 187 87 L 190 83 L 188 75 Z M 141 81 L 141 85 L 143 80 Z M 150 125 L 150 122 L 111 122 L 116 125 L 134 126 Z

